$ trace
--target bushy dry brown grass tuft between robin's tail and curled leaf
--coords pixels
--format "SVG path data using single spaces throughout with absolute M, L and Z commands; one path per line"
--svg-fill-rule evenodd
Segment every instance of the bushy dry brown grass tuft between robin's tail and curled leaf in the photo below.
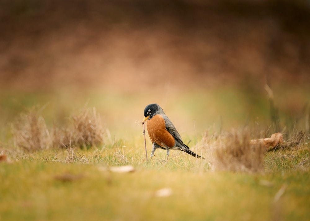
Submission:
M 206 137 L 202 142 L 206 142 Z M 209 161 L 214 171 L 260 172 L 264 169 L 262 144 L 251 145 L 248 130 L 224 132 L 210 145 Z

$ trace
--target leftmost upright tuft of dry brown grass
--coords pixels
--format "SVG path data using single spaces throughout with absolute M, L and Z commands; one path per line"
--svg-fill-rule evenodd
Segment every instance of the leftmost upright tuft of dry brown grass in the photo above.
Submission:
M 33 106 L 26 113 L 21 113 L 12 124 L 14 146 L 33 152 L 47 149 L 50 134 L 41 116 L 43 108 Z

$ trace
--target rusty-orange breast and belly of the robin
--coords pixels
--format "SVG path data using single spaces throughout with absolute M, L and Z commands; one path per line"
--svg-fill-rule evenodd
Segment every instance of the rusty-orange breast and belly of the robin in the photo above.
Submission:
M 155 115 L 147 121 L 148 135 L 152 143 L 165 147 L 175 145 L 174 137 L 166 130 L 165 120 L 161 115 Z

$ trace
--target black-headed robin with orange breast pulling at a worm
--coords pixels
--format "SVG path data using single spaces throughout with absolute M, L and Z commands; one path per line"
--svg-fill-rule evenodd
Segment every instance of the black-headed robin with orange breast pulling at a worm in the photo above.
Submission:
M 148 136 L 153 143 L 151 157 L 157 148 L 161 148 L 167 150 L 167 159 L 169 150 L 181 150 L 193 157 L 204 159 L 189 150 L 189 147 L 183 143 L 179 132 L 158 104 L 149 104 L 145 107 L 143 123 L 146 120 Z

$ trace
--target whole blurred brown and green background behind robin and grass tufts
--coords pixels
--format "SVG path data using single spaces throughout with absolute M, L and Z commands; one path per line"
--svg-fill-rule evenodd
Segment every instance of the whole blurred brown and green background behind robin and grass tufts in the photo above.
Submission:
M 305 128 L 309 27 L 308 0 L 1 0 L 1 125 L 37 104 L 61 124 L 87 104 L 130 134 L 157 102 L 180 132 L 268 128 L 268 84 L 271 132 Z

